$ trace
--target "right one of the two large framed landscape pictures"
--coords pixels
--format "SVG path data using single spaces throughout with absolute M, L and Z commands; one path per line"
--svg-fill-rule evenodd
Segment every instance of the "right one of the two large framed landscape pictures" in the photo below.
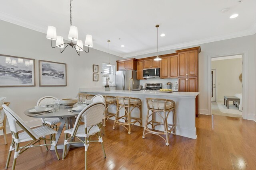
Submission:
M 39 86 L 67 86 L 67 65 L 39 60 Z

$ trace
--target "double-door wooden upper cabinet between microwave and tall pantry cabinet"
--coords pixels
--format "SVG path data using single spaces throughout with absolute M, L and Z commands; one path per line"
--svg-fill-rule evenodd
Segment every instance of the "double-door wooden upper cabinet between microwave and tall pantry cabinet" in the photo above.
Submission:
M 178 55 L 177 53 L 160 56 L 160 78 L 178 77 Z

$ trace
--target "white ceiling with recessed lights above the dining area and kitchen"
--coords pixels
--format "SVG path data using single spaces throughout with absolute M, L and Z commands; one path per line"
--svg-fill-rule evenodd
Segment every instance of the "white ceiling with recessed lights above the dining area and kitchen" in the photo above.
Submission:
M 0 20 L 46 33 L 47 26 L 67 39 L 69 0 L 5 0 Z M 222 13 L 222 9 L 230 8 Z M 239 14 L 230 19 L 232 14 Z M 73 0 L 72 25 L 78 38 L 93 37 L 93 48 L 120 57 L 198 45 L 256 32 L 256 0 Z M 120 40 L 119 40 L 120 38 Z M 50 40 L 49 40 L 50 45 Z M 125 47 L 120 47 L 125 45 Z

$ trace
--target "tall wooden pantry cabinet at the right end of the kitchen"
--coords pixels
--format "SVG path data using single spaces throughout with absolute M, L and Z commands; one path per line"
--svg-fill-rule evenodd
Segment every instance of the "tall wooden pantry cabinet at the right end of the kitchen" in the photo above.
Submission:
M 198 57 L 200 47 L 177 50 L 179 92 L 199 92 Z M 199 95 L 196 96 L 196 116 L 199 114 Z

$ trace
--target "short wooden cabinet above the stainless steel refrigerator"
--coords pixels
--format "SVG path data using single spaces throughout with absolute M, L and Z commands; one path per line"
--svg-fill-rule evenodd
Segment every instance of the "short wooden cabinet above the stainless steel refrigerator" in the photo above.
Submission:
M 126 59 L 116 61 L 117 71 L 137 70 L 137 59 Z

